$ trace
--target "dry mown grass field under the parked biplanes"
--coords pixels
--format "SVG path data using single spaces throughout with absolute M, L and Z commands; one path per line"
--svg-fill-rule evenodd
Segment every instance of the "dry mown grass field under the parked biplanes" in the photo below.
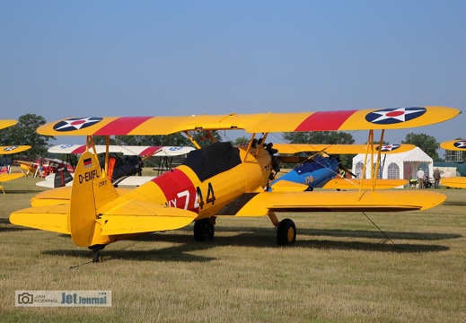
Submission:
M 0 194 L 1 322 L 466 321 L 466 190 L 438 189 L 446 202 L 424 212 L 366 214 L 389 239 L 364 214 L 278 214 L 297 227 L 279 248 L 267 217 L 222 218 L 211 243 L 189 225 L 86 264 L 91 251 L 68 236 L 9 223 L 36 181 Z M 110 290 L 112 306 L 16 308 L 16 290 Z

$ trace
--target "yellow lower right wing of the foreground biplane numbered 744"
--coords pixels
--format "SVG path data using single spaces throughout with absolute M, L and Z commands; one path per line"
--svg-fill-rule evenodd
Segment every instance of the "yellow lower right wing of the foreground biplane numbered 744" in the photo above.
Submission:
M 226 205 L 216 215 L 262 216 L 274 212 L 397 212 L 425 210 L 439 205 L 446 196 L 429 191 L 366 190 L 340 192 L 250 193 Z

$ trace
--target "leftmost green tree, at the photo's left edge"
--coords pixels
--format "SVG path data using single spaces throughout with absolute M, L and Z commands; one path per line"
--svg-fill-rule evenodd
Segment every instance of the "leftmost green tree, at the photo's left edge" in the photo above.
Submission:
M 36 130 L 45 125 L 46 120 L 35 114 L 25 114 L 18 118 L 18 123 L 13 127 L 0 130 L 0 144 L 2 145 L 31 145 L 31 149 L 24 155 L 31 158 L 47 155 L 48 140 L 55 140 L 54 136 L 39 135 Z

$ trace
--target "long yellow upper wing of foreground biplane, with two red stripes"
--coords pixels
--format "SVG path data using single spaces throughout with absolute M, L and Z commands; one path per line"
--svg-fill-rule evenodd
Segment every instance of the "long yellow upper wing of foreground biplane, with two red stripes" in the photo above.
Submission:
M 211 116 L 67 118 L 43 125 L 37 132 L 40 135 L 169 135 L 221 129 L 244 129 L 249 133 L 398 129 L 435 124 L 460 113 L 458 109 L 432 106 Z

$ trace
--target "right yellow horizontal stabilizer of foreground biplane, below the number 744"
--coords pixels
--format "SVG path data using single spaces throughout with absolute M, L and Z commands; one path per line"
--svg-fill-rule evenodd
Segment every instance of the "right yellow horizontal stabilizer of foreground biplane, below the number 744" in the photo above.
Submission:
M 127 201 L 101 215 L 102 235 L 168 231 L 193 222 L 198 214 L 142 201 Z

